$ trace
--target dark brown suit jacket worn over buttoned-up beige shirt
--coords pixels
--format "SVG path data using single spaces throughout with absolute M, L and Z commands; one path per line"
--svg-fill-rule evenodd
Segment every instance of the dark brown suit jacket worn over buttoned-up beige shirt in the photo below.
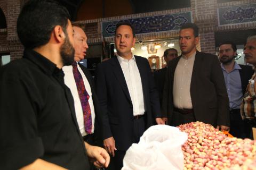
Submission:
M 181 56 L 168 65 L 163 92 L 162 113 L 169 118 L 173 114 L 173 79 Z M 225 80 L 217 56 L 196 52 L 191 77 L 190 95 L 196 121 L 213 126 L 229 122 L 229 100 Z

